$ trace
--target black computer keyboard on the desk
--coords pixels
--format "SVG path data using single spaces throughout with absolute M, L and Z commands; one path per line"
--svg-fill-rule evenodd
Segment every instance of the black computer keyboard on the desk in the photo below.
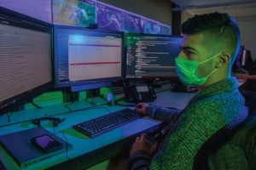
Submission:
M 134 121 L 140 116 L 136 111 L 131 109 L 124 109 L 110 113 L 106 116 L 100 116 L 90 121 L 81 122 L 74 125 L 73 128 L 80 133 L 84 133 L 91 138 L 96 137 L 102 133 L 107 133 L 113 128 L 120 127 L 128 122 Z

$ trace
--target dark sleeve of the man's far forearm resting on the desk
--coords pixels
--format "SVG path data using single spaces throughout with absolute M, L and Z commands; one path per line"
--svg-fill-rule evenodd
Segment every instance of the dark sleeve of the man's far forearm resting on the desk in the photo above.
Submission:
M 174 122 L 177 116 L 181 113 L 178 109 L 161 108 L 157 105 L 148 105 L 146 114 L 161 122 Z

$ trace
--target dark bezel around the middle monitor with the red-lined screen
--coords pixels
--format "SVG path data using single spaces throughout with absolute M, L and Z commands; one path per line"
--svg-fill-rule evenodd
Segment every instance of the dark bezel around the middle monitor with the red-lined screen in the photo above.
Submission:
M 121 48 L 121 75 L 120 77 L 107 77 L 107 78 L 98 78 L 98 79 L 90 79 L 90 80 L 82 80 L 77 82 L 70 82 L 69 83 L 59 83 L 57 77 L 56 77 L 56 69 L 58 68 L 57 65 L 57 57 L 56 57 L 56 41 L 55 39 L 56 29 L 73 29 L 78 31 L 89 31 L 89 32 L 102 32 L 102 33 L 112 33 L 112 34 L 119 34 L 120 38 L 122 39 L 122 48 Z M 88 89 L 94 89 L 94 88 L 103 88 L 103 87 L 109 87 L 111 86 L 111 82 L 118 82 L 123 79 L 124 77 L 124 62 L 125 62 L 125 50 L 124 50 L 124 32 L 122 31 L 106 31 L 106 30 L 100 30 L 100 29 L 87 29 L 84 27 L 78 27 L 78 26 L 62 26 L 62 25 L 54 25 L 54 82 L 55 82 L 55 88 L 70 88 L 71 91 L 77 92 L 77 91 L 84 91 Z M 93 85 L 96 85 L 95 87 Z

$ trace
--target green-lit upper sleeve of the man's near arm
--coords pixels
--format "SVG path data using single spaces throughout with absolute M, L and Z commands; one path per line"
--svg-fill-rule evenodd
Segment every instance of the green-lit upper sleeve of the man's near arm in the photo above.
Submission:
M 150 162 L 150 169 L 193 169 L 201 145 L 226 122 L 226 117 L 220 116 L 216 108 L 218 105 L 201 104 L 183 112 L 177 129 L 160 145 Z

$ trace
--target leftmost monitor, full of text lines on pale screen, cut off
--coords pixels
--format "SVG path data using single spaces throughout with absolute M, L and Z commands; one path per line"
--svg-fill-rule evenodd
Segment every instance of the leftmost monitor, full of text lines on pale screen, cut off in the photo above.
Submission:
M 0 8 L 0 113 L 52 83 L 52 26 Z

